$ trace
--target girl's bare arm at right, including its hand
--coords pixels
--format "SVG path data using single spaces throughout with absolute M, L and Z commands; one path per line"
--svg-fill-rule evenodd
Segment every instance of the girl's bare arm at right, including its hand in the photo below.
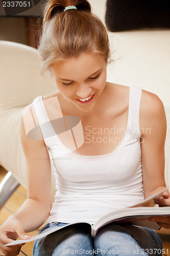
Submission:
M 166 187 L 164 180 L 164 143 L 166 137 L 166 117 L 161 100 L 154 94 L 143 92 L 140 108 L 141 159 L 143 191 L 145 198 Z M 170 206 L 169 193 L 156 201 L 159 206 Z M 153 219 L 160 226 L 170 228 L 170 218 Z

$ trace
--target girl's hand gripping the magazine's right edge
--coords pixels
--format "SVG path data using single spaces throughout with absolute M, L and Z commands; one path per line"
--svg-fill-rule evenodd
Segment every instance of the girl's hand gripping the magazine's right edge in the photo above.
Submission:
M 160 199 L 155 200 L 159 207 L 170 206 L 170 196 L 168 193 L 164 192 Z M 155 221 L 159 226 L 164 228 L 170 228 L 170 217 L 151 217 L 151 221 Z

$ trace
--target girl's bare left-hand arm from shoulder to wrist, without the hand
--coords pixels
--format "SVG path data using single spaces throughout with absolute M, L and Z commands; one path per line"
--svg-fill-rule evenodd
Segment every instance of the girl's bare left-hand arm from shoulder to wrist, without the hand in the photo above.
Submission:
M 27 118 L 27 113 L 25 118 Z M 28 232 L 40 227 L 49 215 L 51 164 L 44 141 L 28 139 L 23 116 L 20 133 L 27 165 L 28 199 L 14 216 L 23 223 L 24 230 Z

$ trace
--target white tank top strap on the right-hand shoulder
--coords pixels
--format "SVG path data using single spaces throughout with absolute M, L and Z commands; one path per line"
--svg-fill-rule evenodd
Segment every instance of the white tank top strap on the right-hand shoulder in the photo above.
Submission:
M 132 86 L 129 91 L 128 129 L 135 137 L 141 137 L 139 125 L 139 109 L 142 89 Z

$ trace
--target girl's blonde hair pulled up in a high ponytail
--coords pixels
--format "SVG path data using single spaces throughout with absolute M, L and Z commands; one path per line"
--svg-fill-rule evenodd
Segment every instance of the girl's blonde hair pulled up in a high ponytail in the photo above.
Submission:
M 64 12 L 67 6 L 76 6 L 77 10 Z M 48 0 L 43 11 L 38 47 L 42 74 L 54 62 L 77 57 L 81 53 L 100 53 L 108 61 L 108 34 L 100 18 L 91 13 L 88 1 Z

